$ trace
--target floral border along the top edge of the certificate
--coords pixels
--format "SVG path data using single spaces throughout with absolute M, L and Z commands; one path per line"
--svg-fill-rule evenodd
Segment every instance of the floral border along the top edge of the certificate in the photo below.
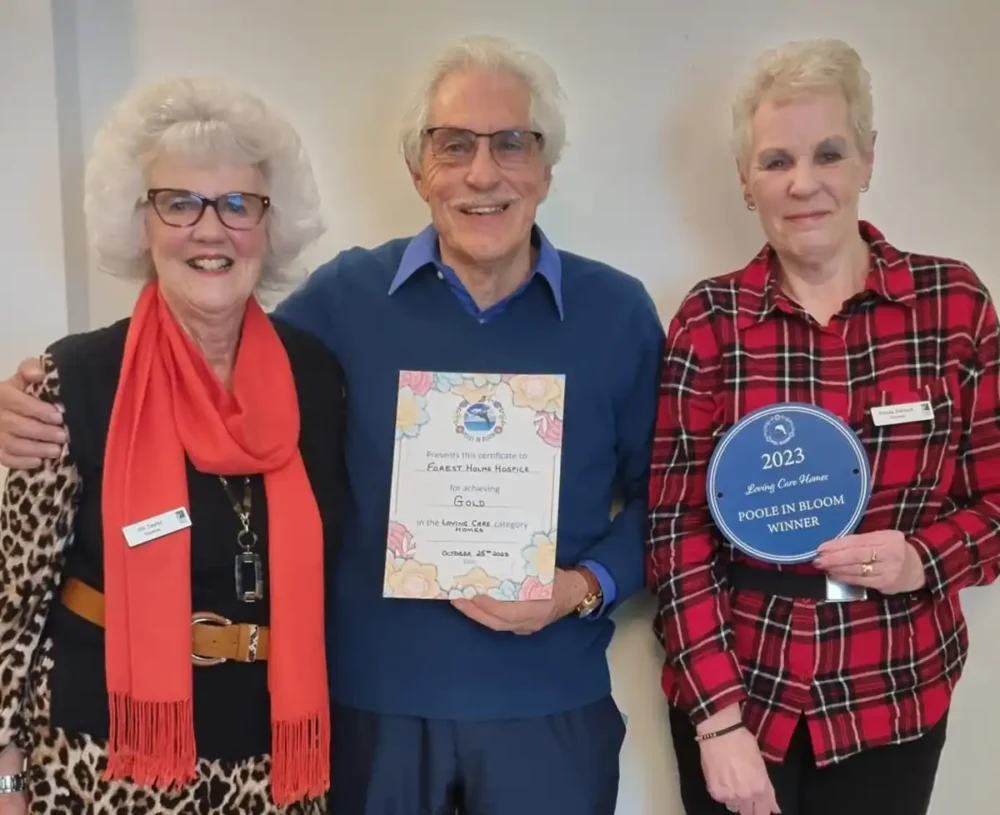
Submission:
M 399 396 L 396 401 L 396 441 L 414 439 L 430 421 L 427 394 L 431 390 L 454 393 L 470 404 L 490 399 L 497 387 L 511 390 L 515 407 L 535 414 L 535 432 L 552 447 L 562 444 L 563 380 L 551 374 L 460 374 L 403 371 L 399 375 Z

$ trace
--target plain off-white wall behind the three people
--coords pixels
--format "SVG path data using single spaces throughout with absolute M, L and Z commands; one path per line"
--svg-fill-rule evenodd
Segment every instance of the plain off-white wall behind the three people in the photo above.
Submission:
M 15 15 L 18 30 L 0 17 L 3 44 L 10 40 L 15 49 L 14 56 L 3 49 L 0 82 L 4 101 L 13 95 L 31 119 L 9 120 L 11 108 L 4 106 L 0 160 L 12 164 L 25 189 L 41 192 L 27 202 L 8 197 L 0 204 L 0 240 L 8 250 L 0 266 L 0 374 L 58 335 L 67 316 L 60 312 L 59 224 L 39 221 L 30 209 L 44 206 L 53 217 L 51 203 L 44 202 L 58 195 L 56 130 L 63 136 L 63 183 L 73 198 L 81 152 L 110 103 L 132 82 L 175 72 L 241 81 L 280 105 L 313 154 L 330 230 L 305 259 L 305 269 L 346 246 L 371 245 L 424 225 L 426 214 L 396 152 L 395 117 L 409 82 L 433 52 L 475 32 L 508 36 L 540 51 L 567 91 L 570 145 L 541 223 L 557 244 L 641 277 L 664 319 L 696 279 L 742 265 L 759 247 L 754 216 L 743 209 L 726 153 L 729 93 L 736 72 L 757 51 L 806 36 L 848 39 L 874 76 L 879 155 L 863 214 L 900 246 L 967 260 L 1000 294 L 997 0 L 589 5 L 299 0 L 279 11 L 270 0 L 81 0 L 75 7 L 57 0 L 56 56 L 65 62 L 72 54 L 77 62 L 75 84 L 72 71 L 58 72 L 57 125 L 47 4 L 30 3 L 28 14 L 29 0 L 21 0 L 15 8 L 27 19 Z M 79 144 L 66 138 L 74 130 Z M 82 302 L 89 322 L 98 325 L 127 313 L 134 289 L 84 271 L 75 207 L 70 200 L 64 213 L 75 250 L 67 279 L 80 293 L 68 316 Z M 28 296 L 26 270 L 46 287 L 44 302 Z M 1000 754 L 994 701 L 1000 587 L 968 592 L 964 602 L 972 653 L 933 811 L 978 815 L 996 812 L 1000 799 L 993 760 Z M 661 656 L 649 616 L 648 598 L 623 609 L 611 649 L 615 692 L 630 717 L 622 815 L 681 812 L 659 690 Z

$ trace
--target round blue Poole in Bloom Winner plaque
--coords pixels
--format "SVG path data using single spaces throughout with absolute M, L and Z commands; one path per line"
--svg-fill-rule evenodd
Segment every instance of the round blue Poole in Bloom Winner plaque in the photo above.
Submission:
M 802 563 L 848 535 L 871 497 L 857 435 L 823 408 L 783 402 L 748 413 L 712 452 L 708 507 L 736 548 L 769 563 Z

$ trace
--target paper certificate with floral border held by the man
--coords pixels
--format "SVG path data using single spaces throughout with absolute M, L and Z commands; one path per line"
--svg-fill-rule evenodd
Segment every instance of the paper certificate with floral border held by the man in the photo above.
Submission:
M 386 597 L 552 596 L 565 378 L 403 371 Z

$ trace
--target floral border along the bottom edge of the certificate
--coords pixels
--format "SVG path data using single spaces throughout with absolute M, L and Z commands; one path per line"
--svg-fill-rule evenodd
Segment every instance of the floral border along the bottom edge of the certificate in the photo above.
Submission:
M 545 600 L 552 595 L 556 569 L 556 530 L 535 532 L 522 547 L 525 578 L 500 580 L 476 566 L 455 579 L 451 588 L 438 580 L 437 566 L 416 559 L 413 533 L 390 521 L 385 552 L 383 594 L 412 600 L 454 600 L 485 594 L 495 600 Z

